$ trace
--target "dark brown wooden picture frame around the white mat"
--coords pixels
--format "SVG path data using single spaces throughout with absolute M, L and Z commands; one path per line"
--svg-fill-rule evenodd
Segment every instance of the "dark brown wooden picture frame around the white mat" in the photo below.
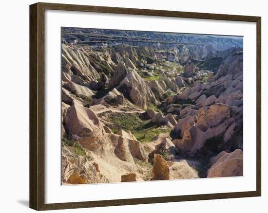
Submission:
M 45 204 L 45 76 L 44 76 L 44 12 L 45 10 L 67 10 L 96 13 L 130 14 L 177 18 L 202 18 L 232 21 L 256 22 L 257 26 L 257 156 L 256 191 L 218 193 L 204 195 L 179 195 L 134 199 L 101 200 L 87 202 Z M 116 205 L 134 205 L 190 200 L 222 199 L 261 196 L 261 17 L 192 13 L 134 8 L 115 8 L 71 4 L 35 3 L 30 5 L 30 208 L 35 210 L 56 210 Z

